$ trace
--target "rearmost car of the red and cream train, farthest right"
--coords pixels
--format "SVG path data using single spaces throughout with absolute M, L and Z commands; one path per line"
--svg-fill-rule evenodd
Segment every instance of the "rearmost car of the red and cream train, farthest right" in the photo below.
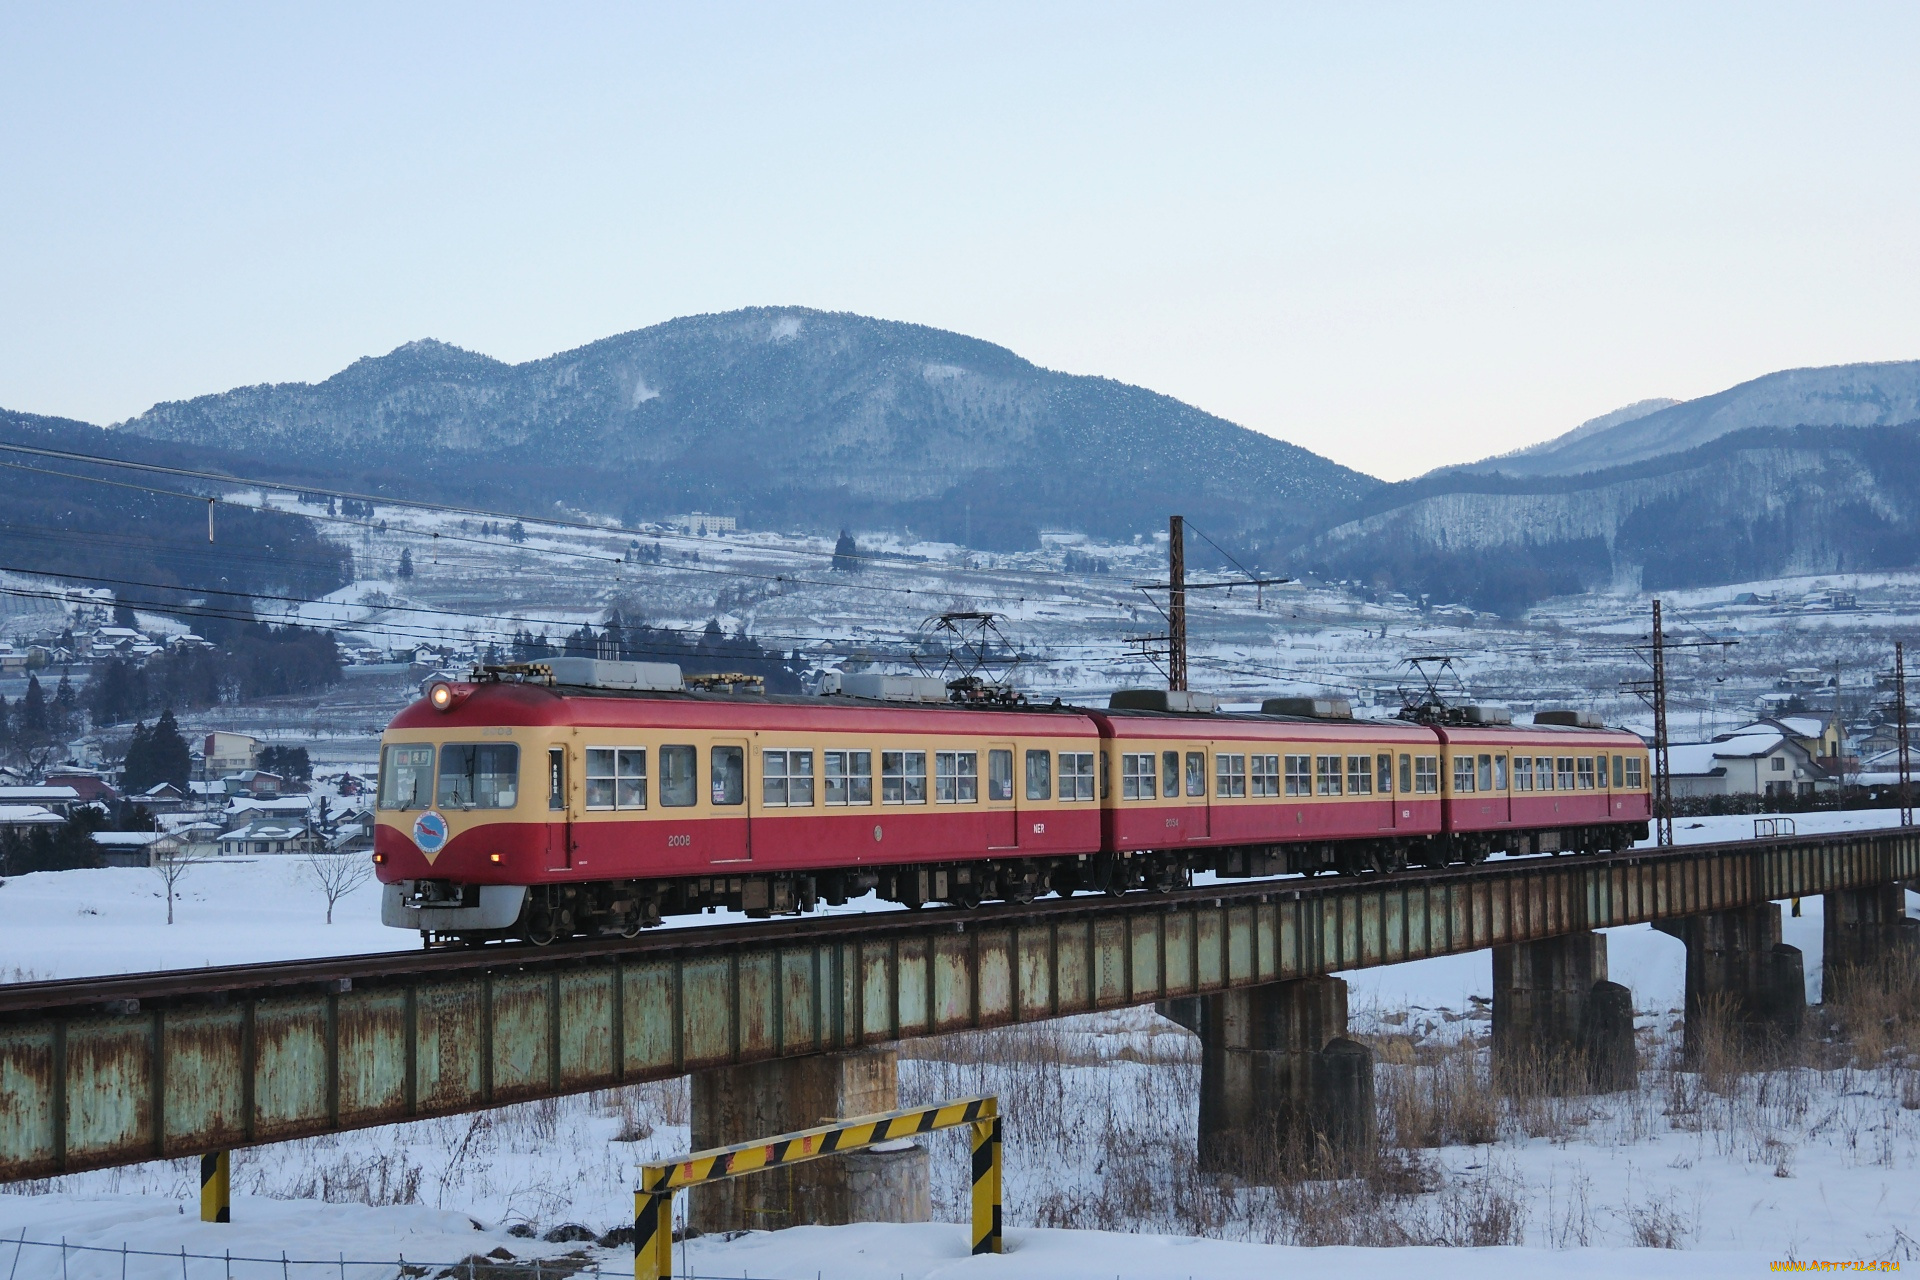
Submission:
M 1465 862 L 1494 852 L 1594 854 L 1647 835 L 1651 773 L 1634 733 L 1586 712 L 1540 712 L 1526 727 L 1488 714 L 1486 723 L 1434 731 L 1442 821 Z

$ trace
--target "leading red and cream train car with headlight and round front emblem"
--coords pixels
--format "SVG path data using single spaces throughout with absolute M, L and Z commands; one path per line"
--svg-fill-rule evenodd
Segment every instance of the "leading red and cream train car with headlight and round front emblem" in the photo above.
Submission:
M 436 685 L 382 745 L 382 919 L 428 940 L 632 936 L 868 890 L 1025 900 L 1098 852 L 1077 712 L 958 708 L 899 677 L 801 699 L 687 691 L 666 664 L 509 674 Z

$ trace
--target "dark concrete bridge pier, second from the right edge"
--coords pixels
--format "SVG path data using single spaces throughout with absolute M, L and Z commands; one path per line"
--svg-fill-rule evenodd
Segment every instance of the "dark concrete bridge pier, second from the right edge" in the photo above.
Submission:
M 1807 967 L 1780 940 L 1780 906 L 1761 902 L 1653 923 L 1686 942 L 1686 1061 L 1697 1063 L 1705 1019 L 1722 1011 L 1743 1048 L 1780 1044 L 1807 1015 Z

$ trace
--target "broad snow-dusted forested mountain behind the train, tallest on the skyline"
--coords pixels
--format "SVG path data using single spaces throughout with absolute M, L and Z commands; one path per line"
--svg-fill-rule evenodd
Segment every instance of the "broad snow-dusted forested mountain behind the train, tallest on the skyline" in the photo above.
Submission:
M 1167 395 L 803 307 L 685 317 L 524 365 L 413 342 L 319 384 L 156 405 L 119 430 L 323 462 L 388 491 L 912 528 L 989 549 L 1043 526 L 1146 532 L 1173 510 L 1298 535 L 1379 487 Z

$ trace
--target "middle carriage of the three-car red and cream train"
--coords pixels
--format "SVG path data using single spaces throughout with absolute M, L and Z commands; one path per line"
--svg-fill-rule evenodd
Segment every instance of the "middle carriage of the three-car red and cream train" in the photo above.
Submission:
M 1169 867 L 1244 877 L 1446 862 L 1430 727 L 1354 720 L 1340 699 L 1210 708 L 1204 695 L 1137 689 L 1094 712 L 1112 779 L 1108 858 L 1127 883 L 1165 881 Z

